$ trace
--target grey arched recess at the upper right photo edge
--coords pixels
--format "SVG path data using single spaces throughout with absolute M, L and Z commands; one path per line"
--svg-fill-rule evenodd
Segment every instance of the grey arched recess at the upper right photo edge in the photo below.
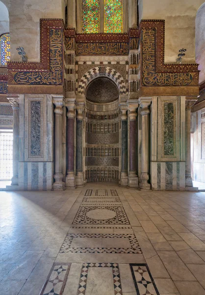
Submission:
M 199 83 L 205 81 L 205 3 L 196 15 L 196 62 L 199 63 Z

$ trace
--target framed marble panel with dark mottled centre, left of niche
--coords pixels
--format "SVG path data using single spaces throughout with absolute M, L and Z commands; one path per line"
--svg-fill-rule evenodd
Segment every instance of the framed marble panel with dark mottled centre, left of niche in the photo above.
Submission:
M 25 161 L 47 160 L 47 98 L 25 95 Z

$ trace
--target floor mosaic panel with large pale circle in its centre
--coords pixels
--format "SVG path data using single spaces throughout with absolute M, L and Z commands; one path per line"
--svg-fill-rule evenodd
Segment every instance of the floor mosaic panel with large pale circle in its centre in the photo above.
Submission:
M 80 206 L 73 224 L 129 224 L 123 206 Z

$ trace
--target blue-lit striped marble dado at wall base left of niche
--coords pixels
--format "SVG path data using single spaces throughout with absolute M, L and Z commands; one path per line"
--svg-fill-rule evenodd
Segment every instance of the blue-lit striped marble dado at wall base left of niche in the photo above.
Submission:
M 19 162 L 19 188 L 22 190 L 51 190 L 52 162 Z

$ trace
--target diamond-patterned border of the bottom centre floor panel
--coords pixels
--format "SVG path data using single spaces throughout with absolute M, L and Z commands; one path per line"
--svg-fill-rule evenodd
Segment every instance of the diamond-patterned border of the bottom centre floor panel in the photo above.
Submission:
M 85 295 L 89 267 L 112 267 L 115 295 L 122 295 L 119 265 L 116 263 L 84 263 L 82 265 L 77 295 Z

